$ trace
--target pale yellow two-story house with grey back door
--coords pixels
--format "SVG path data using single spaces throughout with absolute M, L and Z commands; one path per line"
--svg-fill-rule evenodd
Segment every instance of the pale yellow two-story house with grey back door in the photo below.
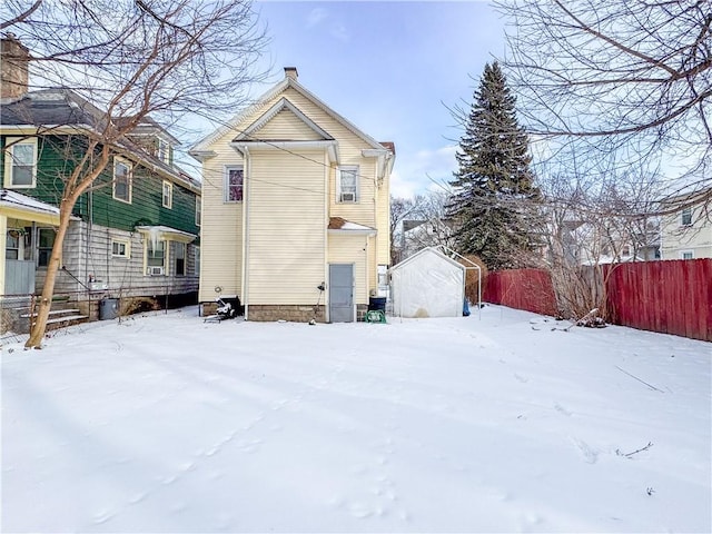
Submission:
M 200 301 L 237 295 L 249 320 L 337 323 L 380 296 L 394 145 L 332 110 L 296 68 L 190 155 L 202 164 Z

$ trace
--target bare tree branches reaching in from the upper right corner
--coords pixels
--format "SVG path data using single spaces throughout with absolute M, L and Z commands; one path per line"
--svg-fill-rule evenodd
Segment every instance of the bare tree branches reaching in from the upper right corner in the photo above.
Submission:
M 712 199 L 712 9 L 709 0 L 501 0 L 502 63 L 527 131 L 575 146 L 581 171 L 683 178 L 666 191 Z M 675 165 L 673 166 L 672 162 Z M 674 175 L 674 176 L 673 176 Z M 600 177 L 603 174 L 597 175 Z M 662 205 L 661 205 L 662 206 Z

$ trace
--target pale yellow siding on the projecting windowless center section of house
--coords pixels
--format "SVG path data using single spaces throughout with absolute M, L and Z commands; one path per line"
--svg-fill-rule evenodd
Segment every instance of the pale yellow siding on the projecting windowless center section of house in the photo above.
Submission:
M 326 259 L 326 154 L 250 155 L 247 304 L 314 305 Z

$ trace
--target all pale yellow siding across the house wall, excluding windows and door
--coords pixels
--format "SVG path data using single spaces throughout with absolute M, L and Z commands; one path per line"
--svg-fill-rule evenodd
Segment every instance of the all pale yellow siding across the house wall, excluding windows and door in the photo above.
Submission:
M 380 228 L 378 235 L 384 237 L 378 238 L 377 246 L 376 240 L 370 239 L 369 259 L 373 264 L 373 273 L 369 273 L 368 278 L 373 284 L 377 277 L 377 258 L 378 263 L 389 263 L 388 195 L 387 190 L 379 192 L 375 187 L 377 158 L 364 158 L 362 155 L 362 150 L 372 148 L 368 144 L 294 89 L 287 89 L 273 100 L 264 102 L 255 109 L 253 115 L 244 117 L 236 123 L 235 128 L 243 130 L 248 128 L 281 98 L 290 100 L 304 115 L 338 140 L 339 165 L 358 166 L 360 201 L 358 204 L 336 201 L 337 167 L 328 160 L 326 150 L 298 150 L 298 156 L 290 156 L 289 152 L 276 148 L 250 149 L 248 164 L 230 145 L 235 139 L 235 129 L 226 129 L 209 147 L 205 147 L 214 151 L 215 156 L 202 162 L 202 201 L 205 204 L 200 233 L 202 255 L 198 296 L 200 301 L 214 300 L 217 295 L 216 288 L 219 288 L 224 294 L 240 295 L 244 301 L 247 298 L 247 304 L 314 306 L 318 297 L 316 286 L 324 281 L 326 276 L 324 240 L 328 216 L 343 217 L 360 225 Z M 265 126 L 254 131 L 253 136 L 264 140 L 316 139 L 316 132 L 288 110 L 277 113 Z M 317 162 L 309 164 L 303 157 L 316 159 Z M 293 165 L 291 161 L 296 164 Z M 314 169 L 307 172 L 306 169 L 312 165 Z M 229 166 L 245 166 L 245 202 L 225 201 L 225 169 Z M 306 167 L 303 168 L 303 166 Z M 253 179 L 256 181 L 253 182 Z M 285 188 L 269 185 L 269 182 L 281 184 L 283 180 L 286 185 L 294 186 L 288 194 L 285 194 Z M 270 187 L 274 188 L 270 189 Z M 322 191 L 320 201 L 317 200 L 319 195 L 314 197 L 308 195 L 308 191 L 319 190 Z M 257 194 L 263 196 L 261 200 L 253 197 Z M 380 197 L 374 202 L 376 195 Z M 375 206 L 383 206 L 383 214 L 378 217 Z M 249 214 L 249 230 L 244 227 L 246 212 Z M 318 218 L 323 220 L 318 224 L 313 222 L 312 217 L 306 220 L 305 214 L 319 214 Z M 320 214 L 324 214 L 324 217 Z M 253 224 L 257 226 L 254 228 Z M 382 227 L 380 225 L 384 224 L 385 226 Z M 244 233 L 247 231 L 250 235 L 249 269 L 243 266 Z M 264 238 L 265 244 L 258 243 L 257 237 Z M 317 237 L 320 244 L 317 244 Z M 300 260 L 301 251 L 295 250 L 301 247 L 303 240 L 305 246 L 310 247 L 316 254 L 314 258 L 307 258 L 305 265 Z M 380 250 L 384 244 L 386 248 Z M 255 251 L 256 246 L 261 257 Z M 265 264 L 268 264 L 265 273 L 257 273 Z M 250 288 L 247 296 L 243 295 L 244 270 L 249 273 L 253 286 L 258 289 L 257 294 L 251 293 Z M 293 287 L 288 281 L 291 276 L 295 276 L 303 287 Z M 270 287 L 275 279 L 277 285 Z M 365 276 L 359 279 L 365 279 Z M 367 301 L 367 289 L 358 287 L 357 291 L 359 291 L 358 298 L 363 296 L 365 298 L 363 301 Z

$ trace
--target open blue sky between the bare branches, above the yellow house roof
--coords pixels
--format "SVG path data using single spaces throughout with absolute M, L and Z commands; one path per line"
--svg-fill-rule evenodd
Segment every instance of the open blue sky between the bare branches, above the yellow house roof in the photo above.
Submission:
M 461 131 L 447 107 L 472 102 L 504 55 L 504 20 L 486 2 L 256 0 L 270 43 L 269 82 L 299 82 L 379 141 L 396 144 L 390 191 L 449 180 Z

